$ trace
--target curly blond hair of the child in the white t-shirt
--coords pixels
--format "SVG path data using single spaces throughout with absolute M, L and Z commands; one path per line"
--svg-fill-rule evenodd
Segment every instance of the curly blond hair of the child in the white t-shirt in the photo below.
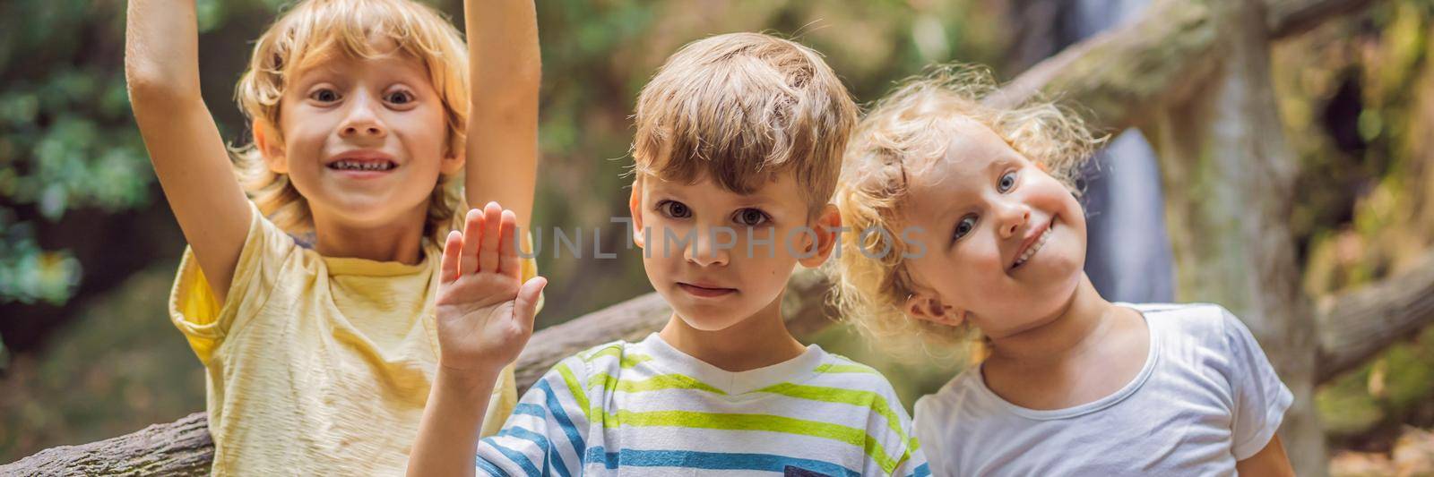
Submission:
M 975 120 L 989 127 L 1073 193 L 1078 193 L 1074 178 L 1080 165 L 1103 140 L 1080 116 L 1051 102 L 1011 109 L 982 103 L 994 92 L 995 80 L 984 67 L 935 67 L 880 99 L 856 126 L 846 150 L 836 206 L 849 232 L 842 236 L 840 258 L 829 268 L 835 301 L 846 321 L 898 358 L 941 355 L 934 347 L 949 355 L 964 345 L 974 345 L 979 355 L 979 332 L 969 322 L 948 327 L 905 312 L 903 304 L 916 292 L 902 259 L 908 244 L 895 233 L 862 233 L 901 228 L 909 178 L 945 156 L 958 123 Z

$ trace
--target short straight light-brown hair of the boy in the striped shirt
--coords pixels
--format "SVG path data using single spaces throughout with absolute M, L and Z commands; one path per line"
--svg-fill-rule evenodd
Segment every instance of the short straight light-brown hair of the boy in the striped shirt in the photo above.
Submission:
M 751 193 L 793 172 L 809 212 L 830 202 L 856 103 L 822 56 L 796 42 L 730 33 L 688 43 L 637 100 L 634 170 L 707 176 Z

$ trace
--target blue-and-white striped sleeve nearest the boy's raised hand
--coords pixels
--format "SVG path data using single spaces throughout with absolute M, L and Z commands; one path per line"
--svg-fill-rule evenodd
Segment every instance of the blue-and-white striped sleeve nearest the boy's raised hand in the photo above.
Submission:
M 503 428 L 478 444 L 479 476 L 579 476 L 587 451 L 587 364 L 569 357 L 518 401 Z

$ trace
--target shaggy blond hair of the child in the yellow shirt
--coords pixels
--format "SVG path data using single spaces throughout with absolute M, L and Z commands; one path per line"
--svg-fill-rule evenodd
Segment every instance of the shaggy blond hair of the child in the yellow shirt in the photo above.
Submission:
M 391 40 L 393 50 L 376 40 Z M 379 57 L 400 53 L 423 63 L 443 102 L 447 126 L 446 152 L 462 153 L 467 125 L 467 47 L 442 13 L 413 0 L 303 0 L 274 20 L 254 46 L 250 66 L 235 87 L 239 109 L 251 126 L 278 135 L 280 99 L 295 73 L 334 54 Z M 265 165 L 251 143 L 234 150 L 239 185 L 260 212 L 290 233 L 313 229 L 308 201 L 288 180 Z M 462 180 L 440 176 L 429 199 L 424 235 L 442 244 L 463 206 Z

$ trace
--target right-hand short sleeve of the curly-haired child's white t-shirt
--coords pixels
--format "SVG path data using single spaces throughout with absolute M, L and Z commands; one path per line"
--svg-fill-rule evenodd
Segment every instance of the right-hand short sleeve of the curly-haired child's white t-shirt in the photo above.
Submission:
M 1275 367 L 1269 364 L 1249 328 L 1229 311 L 1223 314 L 1230 360 L 1229 380 L 1235 397 L 1233 453 L 1235 460 L 1246 460 L 1275 437 L 1293 394 L 1279 381 Z

